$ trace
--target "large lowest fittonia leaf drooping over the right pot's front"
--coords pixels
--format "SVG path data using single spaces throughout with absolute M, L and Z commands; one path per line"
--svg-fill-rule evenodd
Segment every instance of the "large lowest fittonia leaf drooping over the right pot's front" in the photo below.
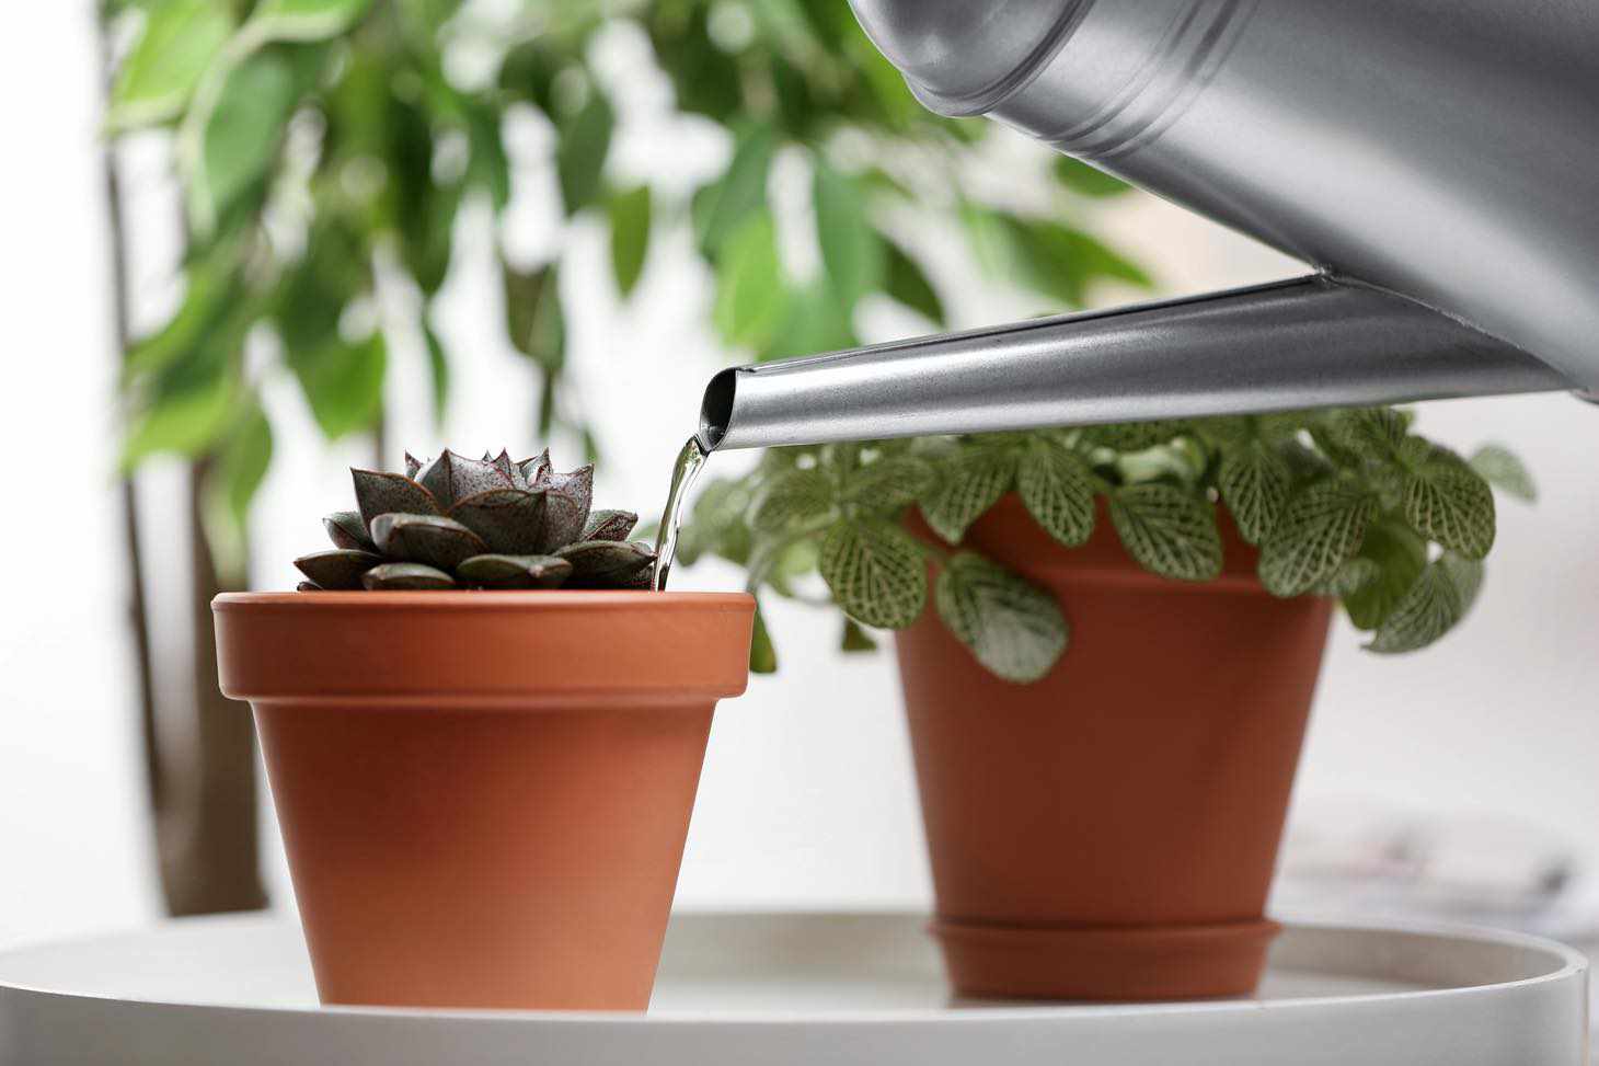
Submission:
M 934 602 L 950 632 L 1006 680 L 1044 677 L 1067 648 L 1067 619 L 1054 597 L 975 552 L 943 563 Z

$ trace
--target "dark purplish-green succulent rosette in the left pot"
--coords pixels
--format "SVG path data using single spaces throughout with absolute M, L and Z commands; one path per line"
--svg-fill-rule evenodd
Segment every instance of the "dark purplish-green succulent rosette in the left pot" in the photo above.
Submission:
M 333 547 L 294 560 L 301 591 L 651 586 L 654 549 L 627 539 L 638 515 L 590 509 L 592 466 L 558 474 L 548 450 L 405 463 L 350 471 L 357 509 L 321 520 Z

